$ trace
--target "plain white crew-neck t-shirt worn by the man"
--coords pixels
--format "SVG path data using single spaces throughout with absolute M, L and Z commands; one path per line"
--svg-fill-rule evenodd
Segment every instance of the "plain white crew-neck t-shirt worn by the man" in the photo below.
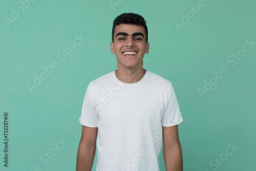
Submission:
M 183 119 L 170 81 L 146 71 L 124 83 L 112 71 L 89 83 L 79 121 L 98 127 L 97 171 L 155 171 L 162 126 Z

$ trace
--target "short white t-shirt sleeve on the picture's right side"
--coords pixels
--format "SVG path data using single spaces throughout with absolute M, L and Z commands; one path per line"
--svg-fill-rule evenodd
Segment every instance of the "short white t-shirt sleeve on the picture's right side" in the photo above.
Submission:
M 162 116 L 162 126 L 174 126 L 183 121 L 180 113 L 179 104 L 174 92 L 172 83 L 167 90 L 167 98 L 164 103 L 164 112 Z

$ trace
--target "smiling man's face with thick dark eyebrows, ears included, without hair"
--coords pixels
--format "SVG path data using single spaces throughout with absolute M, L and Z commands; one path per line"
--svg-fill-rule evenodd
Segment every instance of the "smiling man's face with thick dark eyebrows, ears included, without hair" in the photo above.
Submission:
M 148 53 L 149 43 L 145 42 L 145 30 L 142 26 L 121 24 L 116 26 L 111 52 L 116 54 L 118 68 L 143 66 L 144 54 Z

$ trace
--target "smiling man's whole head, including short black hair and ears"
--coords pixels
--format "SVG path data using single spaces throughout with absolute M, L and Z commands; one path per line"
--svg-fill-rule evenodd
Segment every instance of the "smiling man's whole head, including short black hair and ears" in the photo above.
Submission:
M 124 13 L 114 20 L 111 53 L 116 54 L 118 69 L 143 67 L 144 54 L 148 53 L 147 27 L 138 14 Z

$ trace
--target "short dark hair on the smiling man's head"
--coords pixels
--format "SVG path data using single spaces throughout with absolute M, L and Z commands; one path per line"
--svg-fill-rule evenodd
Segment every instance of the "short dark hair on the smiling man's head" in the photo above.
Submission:
M 116 26 L 120 24 L 132 24 L 137 26 L 142 26 L 145 29 L 146 33 L 146 42 L 148 40 L 147 38 L 147 27 L 146 27 L 146 21 L 144 18 L 135 13 L 122 13 L 121 15 L 117 16 L 116 19 L 113 22 L 113 28 L 112 28 L 112 41 L 114 42 L 114 34 L 115 34 L 115 28 Z

